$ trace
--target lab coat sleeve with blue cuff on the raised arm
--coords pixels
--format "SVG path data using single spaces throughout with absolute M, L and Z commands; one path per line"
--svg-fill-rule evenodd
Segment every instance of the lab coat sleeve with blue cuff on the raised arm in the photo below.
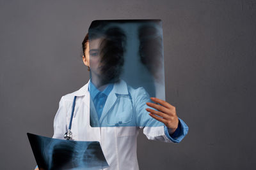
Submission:
M 150 97 L 146 90 L 140 87 L 136 89 L 134 96 L 136 96 L 136 99 L 134 99 L 136 124 L 138 127 L 143 128 L 143 133 L 148 139 L 167 143 L 179 143 L 186 136 L 186 134 L 188 134 L 188 126 L 179 118 L 179 132 L 176 132 L 175 138 L 172 138 L 172 136 L 169 134 L 168 127 L 166 127 L 162 122 L 159 122 L 148 115 L 146 108 L 149 108 L 149 106 L 147 106 L 146 103 L 152 101 L 150 101 Z

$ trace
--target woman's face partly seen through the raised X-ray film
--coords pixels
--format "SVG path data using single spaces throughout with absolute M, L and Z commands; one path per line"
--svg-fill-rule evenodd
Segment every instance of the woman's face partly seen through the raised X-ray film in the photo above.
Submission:
M 90 67 L 92 74 L 100 75 L 100 43 L 102 38 L 92 39 L 90 43 L 86 42 L 85 57 L 83 62 Z

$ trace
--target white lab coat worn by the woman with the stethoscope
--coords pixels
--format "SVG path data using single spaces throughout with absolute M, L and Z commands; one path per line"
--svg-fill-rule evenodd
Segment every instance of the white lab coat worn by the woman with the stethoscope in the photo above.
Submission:
M 113 106 L 116 100 L 116 94 L 128 94 L 130 92 L 135 104 L 143 104 L 141 113 L 147 114 L 145 104 L 149 101 L 147 92 L 143 88 L 132 89 L 127 86 L 125 81 L 121 80 L 115 83 L 113 90 L 106 100 L 105 108 L 102 111 L 102 117 L 108 112 L 108 107 Z M 59 109 L 54 118 L 54 135 L 52 138 L 64 139 L 70 122 L 72 103 L 74 96 L 77 96 L 74 118 L 72 120 L 71 131 L 73 139 L 77 141 L 99 141 L 106 160 L 109 164 L 108 170 L 139 169 L 136 155 L 138 130 L 143 128 L 143 133 L 148 139 L 172 143 L 164 134 L 164 126 L 159 127 L 91 127 L 90 126 L 90 93 L 88 92 L 88 83 L 81 89 L 61 97 Z M 141 105 L 142 106 L 142 105 Z M 138 112 L 138 111 L 137 111 Z M 135 118 L 136 118 L 135 117 Z M 150 121 L 156 121 L 150 118 Z M 102 120 L 101 120 L 102 121 Z M 158 122 L 159 123 L 159 122 Z

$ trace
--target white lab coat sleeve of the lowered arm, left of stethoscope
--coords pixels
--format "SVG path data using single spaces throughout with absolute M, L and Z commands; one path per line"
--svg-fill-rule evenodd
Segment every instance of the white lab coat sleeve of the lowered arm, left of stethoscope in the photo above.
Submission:
M 65 106 L 64 96 L 61 97 L 58 111 L 54 117 L 54 134 L 52 138 L 64 139 L 64 134 L 67 132 L 67 108 Z

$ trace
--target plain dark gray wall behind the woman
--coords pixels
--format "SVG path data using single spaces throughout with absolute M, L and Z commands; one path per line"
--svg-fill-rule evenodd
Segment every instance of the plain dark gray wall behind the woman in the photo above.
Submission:
M 0 169 L 33 169 L 26 132 L 52 136 L 60 97 L 88 81 L 96 19 L 163 20 L 166 101 L 179 144 L 138 138 L 141 169 L 255 168 L 255 1 L 0 1 Z M 172 168 L 171 168 L 172 167 Z

